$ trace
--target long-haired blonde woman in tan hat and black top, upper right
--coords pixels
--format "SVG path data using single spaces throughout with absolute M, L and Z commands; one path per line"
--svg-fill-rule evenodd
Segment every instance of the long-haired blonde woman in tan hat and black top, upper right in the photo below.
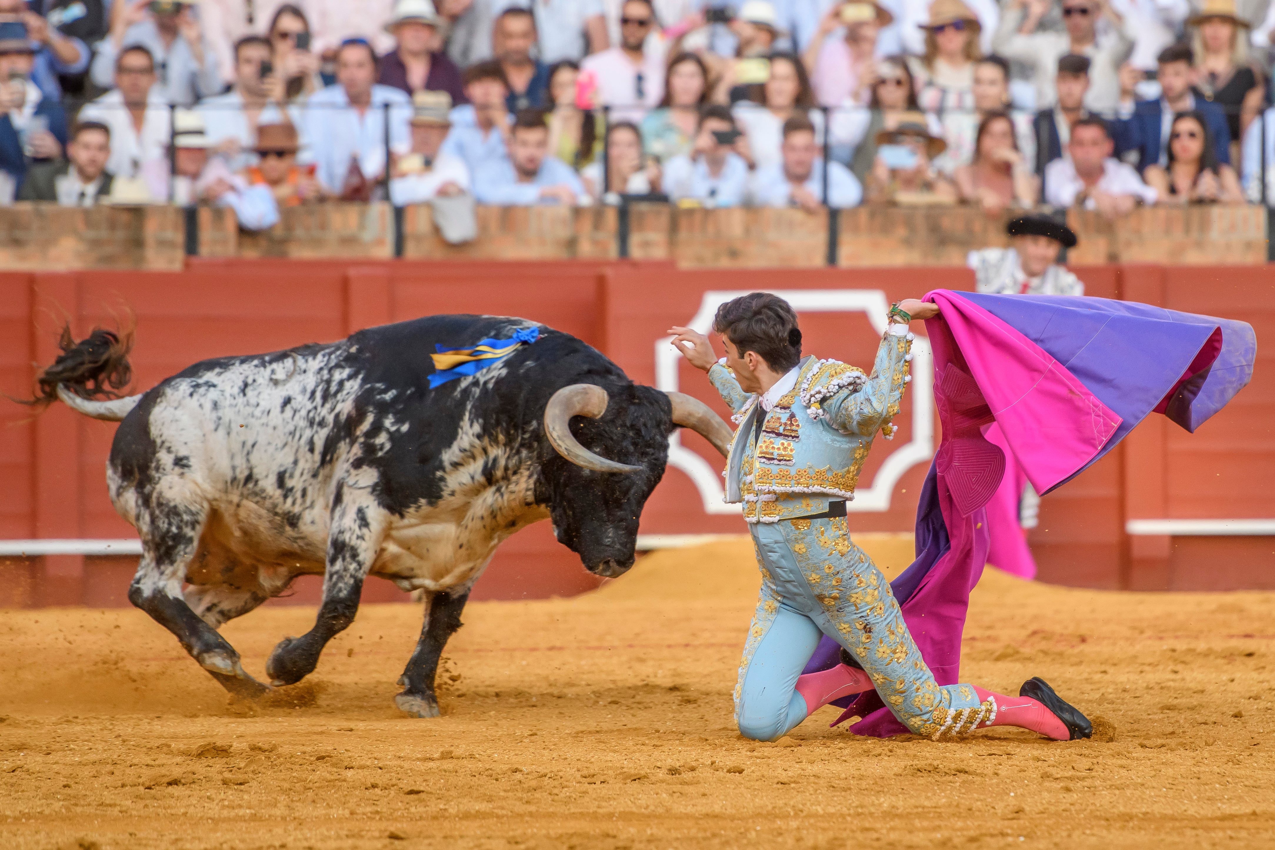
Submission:
M 1195 29 L 1196 87 L 1227 113 L 1230 159 L 1238 162 L 1239 139 L 1266 97 L 1261 70 L 1248 61 L 1248 22 L 1235 15 L 1235 0 L 1206 0 L 1187 24 Z

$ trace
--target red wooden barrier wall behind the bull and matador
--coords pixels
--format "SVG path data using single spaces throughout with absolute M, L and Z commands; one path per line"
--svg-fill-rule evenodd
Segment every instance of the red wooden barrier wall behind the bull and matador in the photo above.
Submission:
M 1275 291 L 1265 268 L 1094 266 L 1079 270 L 1090 294 L 1246 319 L 1265 340 L 1275 333 Z M 152 386 L 196 361 L 339 339 L 370 325 L 441 312 L 520 315 L 572 333 L 655 382 L 655 342 L 685 322 L 709 291 L 882 291 L 889 299 L 927 289 L 966 289 L 964 269 L 680 270 L 664 263 L 328 263 L 203 260 L 182 273 L 0 274 L 0 390 L 29 391 L 34 363 L 57 353 L 64 319 L 78 335 L 136 315 L 135 387 Z M 803 312 L 806 350 L 866 363 L 876 333 L 859 313 Z M 1196 435 L 1153 417 L 1084 475 L 1046 498 L 1031 543 L 1042 577 L 1109 587 L 1275 586 L 1271 538 L 1128 538 L 1127 519 L 1275 516 L 1275 380 L 1258 348 L 1253 384 Z M 724 408 L 703 375 L 680 367 L 682 391 Z M 912 438 L 912 400 L 892 443 L 878 442 L 863 482 Z M 32 418 L 4 403 L 0 440 L 0 538 L 130 538 L 106 497 L 103 463 L 115 426 L 61 405 Z M 937 423 L 936 423 L 937 427 Z M 715 468 L 696 435 L 683 443 Z M 926 463 L 894 487 L 889 510 L 854 514 L 859 530 L 908 530 Z M 742 531 L 737 516 L 708 515 L 687 475 L 669 469 L 648 503 L 643 531 Z M 0 568 L 0 604 L 124 604 L 127 558 L 57 556 Z M 298 582 L 293 600 L 314 599 Z M 497 553 L 476 598 L 571 594 L 594 585 L 547 524 Z M 368 598 L 403 595 L 370 582 Z

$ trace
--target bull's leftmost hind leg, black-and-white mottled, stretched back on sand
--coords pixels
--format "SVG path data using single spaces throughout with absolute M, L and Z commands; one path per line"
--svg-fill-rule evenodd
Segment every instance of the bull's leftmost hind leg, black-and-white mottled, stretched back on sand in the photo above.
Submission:
M 259 697 L 269 688 L 244 672 L 235 647 L 190 609 L 182 594 L 186 567 L 195 557 L 207 516 L 207 508 L 194 502 L 159 498 L 138 516 L 142 562 L 129 587 L 129 601 L 176 635 L 223 688 L 237 696 Z

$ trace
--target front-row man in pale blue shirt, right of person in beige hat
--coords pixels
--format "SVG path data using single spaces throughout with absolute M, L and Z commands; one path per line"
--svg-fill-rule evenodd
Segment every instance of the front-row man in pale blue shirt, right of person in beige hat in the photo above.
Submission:
M 499 206 L 561 204 L 586 199 L 584 184 L 571 166 L 548 155 L 550 129 L 538 110 L 523 110 L 510 130 L 509 158 L 474 175 L 474 199 Z

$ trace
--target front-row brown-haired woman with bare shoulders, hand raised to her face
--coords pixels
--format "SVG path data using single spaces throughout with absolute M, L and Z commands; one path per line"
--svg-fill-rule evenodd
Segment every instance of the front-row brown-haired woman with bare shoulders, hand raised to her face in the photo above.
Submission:
M 991 112 L 978 125 L 973 162 L 956 169 L 956 190 L 963 201 L 979 204 L 992 217 L 1009 206 L 1030 209 L 1037 180 L 1029 162 L 1019 150 L 1010 116 Z

